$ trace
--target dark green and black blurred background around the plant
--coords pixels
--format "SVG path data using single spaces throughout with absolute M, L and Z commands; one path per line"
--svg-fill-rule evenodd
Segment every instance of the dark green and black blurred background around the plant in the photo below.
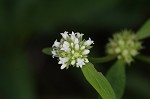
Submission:
M 0 0 L 0 99 L 97 99 L 80 69 L 60 70 L 42 48 L 74 31 L 91 37 L 90 55 L 102 57 L 114 32 L 136 32 L 149 11 L 149 0 Z M 150 56 L 149 44 L 142 53 Z M 105 74 L 112 64 L 96 68 Z M 126 74 L 123 99 L 150 99 L 150 65 L 136 61 Z

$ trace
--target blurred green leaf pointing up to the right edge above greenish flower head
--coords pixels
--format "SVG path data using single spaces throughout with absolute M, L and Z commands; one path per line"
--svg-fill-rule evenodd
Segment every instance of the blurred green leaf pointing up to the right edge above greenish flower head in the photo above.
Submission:
M 150 37 L 150 19 L 137 32 L 138 39 L 145 39 Z

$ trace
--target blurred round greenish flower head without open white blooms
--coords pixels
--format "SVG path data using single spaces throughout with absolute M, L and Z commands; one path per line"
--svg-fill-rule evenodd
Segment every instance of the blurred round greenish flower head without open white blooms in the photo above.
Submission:
M 114 34 L 106 46 L 108 54 L 117 55 L 118 59 L 123 59 L 128 64 L 133 61 L 134 56 L 139 54 L 140 49 L 142 45 L 136 34 L 128 30 Z

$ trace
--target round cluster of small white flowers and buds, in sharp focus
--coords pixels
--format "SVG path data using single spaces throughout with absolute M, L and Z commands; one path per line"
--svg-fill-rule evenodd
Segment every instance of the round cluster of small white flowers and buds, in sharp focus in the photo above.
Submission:
M 90 53 L 90 46 L 94 41 L 89 38 L 82 40 L 84 34 L 74 33 L 69 34 L 67 31 L 60 33 L 62 39 L 60 42 L 54 42 L 52 48 L 52 57 L 58 57 L 58 64 L 62 64 L 61 69 L 69 68 L 69 65 L 82 68 L 83 65 L 89 62 L 87 55 Z

